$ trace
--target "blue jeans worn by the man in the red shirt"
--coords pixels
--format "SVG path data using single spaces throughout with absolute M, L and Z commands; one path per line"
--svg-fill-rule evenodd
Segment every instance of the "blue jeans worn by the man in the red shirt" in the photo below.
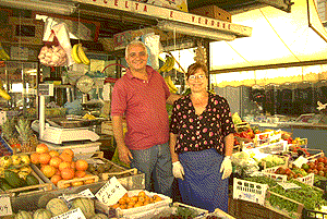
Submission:
M 133 156 L 131 168 L 145 173 L 145 190 L 152 191 L 150 182 L 154 173 L 155 192 L 171 197 L 173 174 L 168 143 L 131 153 Z

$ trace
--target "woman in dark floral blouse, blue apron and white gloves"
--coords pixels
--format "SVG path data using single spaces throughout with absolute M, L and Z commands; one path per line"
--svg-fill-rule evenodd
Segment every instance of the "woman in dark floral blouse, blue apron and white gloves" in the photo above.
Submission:
M 173 105 L 170 151 L 182 202 L 228 211 L 228 178 L 232 166 L 234 125 L 225 98 L 207 90 L 207 66 L 189 66 L 191 94 Z

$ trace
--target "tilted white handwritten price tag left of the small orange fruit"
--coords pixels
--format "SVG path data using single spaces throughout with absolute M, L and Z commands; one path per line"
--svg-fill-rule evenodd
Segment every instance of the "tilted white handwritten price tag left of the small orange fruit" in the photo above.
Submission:
M 116 204 L 125 193 L 116 177 L 111 178 L 97 193 L 96 197 L 107 206 Z

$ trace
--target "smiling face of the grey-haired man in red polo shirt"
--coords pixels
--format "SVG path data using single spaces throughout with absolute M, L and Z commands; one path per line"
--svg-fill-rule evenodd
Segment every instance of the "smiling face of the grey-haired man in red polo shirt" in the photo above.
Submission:
M 147 63 L 147 58 L 148 56 L 145 48 L 141 45 L 130 47 L 125 56 L 126 62 L 132 71 L 144 70 Z

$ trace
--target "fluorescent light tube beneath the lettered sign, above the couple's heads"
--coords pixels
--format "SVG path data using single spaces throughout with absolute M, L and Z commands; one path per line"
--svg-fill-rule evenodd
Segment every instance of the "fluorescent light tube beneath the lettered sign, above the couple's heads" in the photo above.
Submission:
M 169 32 L 175 31 L 177 33 L 180 33 L 180 34 L 214 39 L 217 41 L 220 41 L 220 40 L 231 41 L 237 38 L 237 36 L 232 35 L 232 34 L 223 34 L 219 31 L 209 29 L 206 27 L 195 26 L 195 25 L 191 25 L 191 24 L 172 22 L 172 21 L 159 21 L 157 26 L 158 26 L 158 28 L 164 29 L 164 31 L 169 31 Z

